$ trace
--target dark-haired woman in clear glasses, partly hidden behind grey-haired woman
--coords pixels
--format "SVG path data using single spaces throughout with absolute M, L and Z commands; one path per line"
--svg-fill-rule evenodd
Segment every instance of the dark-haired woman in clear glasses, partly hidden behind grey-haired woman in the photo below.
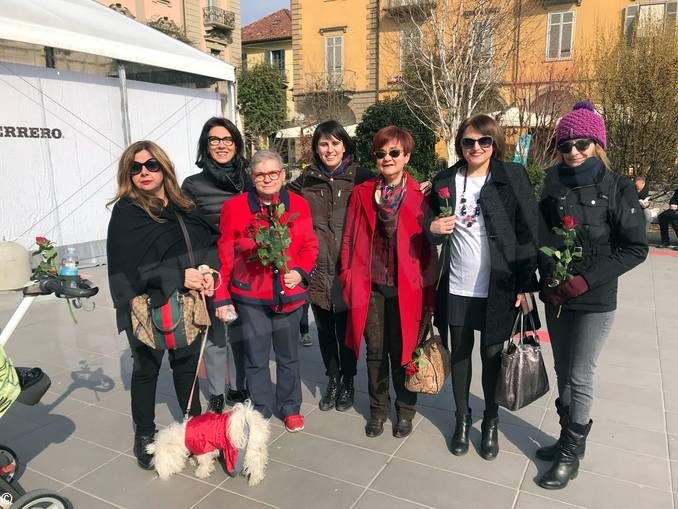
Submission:
M 243 150 L 242 136 L 233 122 L 223 117 L 212 117 L 205 122 L 198 139 L 195 162 L 202 172 L 187 177 L 181 188 L 216 229 L 219 229 L 223 204 L 252 189 Z M 210 309 L 210 314 L 214 317 L 214 310 Z M 234 377 L 228 373 L 229 348 L 233 352 Z M 221 413 L 224 400 L 232 405 L 247 399 L 245 349 L 239 321 L 229 324 L 227 342 L 224 324 L 212 320 L 204 359 L 210 395 L 208 411 Z M 228 379 L 234 381 L 234 385 L 225 391 L 225 380 Z

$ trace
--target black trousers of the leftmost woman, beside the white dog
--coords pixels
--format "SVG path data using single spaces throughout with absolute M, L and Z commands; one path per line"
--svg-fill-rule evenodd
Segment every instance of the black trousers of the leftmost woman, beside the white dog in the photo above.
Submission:
M 136 432 L 141 435 L 151 435 L 155 431 L 155 391 L 158 385 L 158 373 L 162 365 L 164 350 L 154 350 L 134 338 L 131 331 L 127 330 L 127 337 L 132 347 L 132 383 L 130 393 L 132 397 L 132 420 L 136 426 Z M 190 352 L 175 352 L 169 350 L 170 367 L 174 379 L 174 390 L 179 400 L 181 413 L 186 413 L 188 397 L 191 386 L 198 369 L 198 356 L 200 355 L 199 339 L 191 345 Z M 198 381 L 195 382 L 193 401 L 190 415 L 200 415 L 200 391 Z

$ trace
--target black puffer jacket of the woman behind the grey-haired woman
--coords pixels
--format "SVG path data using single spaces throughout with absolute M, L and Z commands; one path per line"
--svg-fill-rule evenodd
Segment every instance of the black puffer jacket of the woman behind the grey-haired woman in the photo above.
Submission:
M 205 166 L 200 173 L 186 177 L 181 190 L 196 204 L 202 216 L 219 228 L 219 216 L 224 202 L 253 189 L 247 174 L 247 163 L 241 161 L 238 171 L 215 171 Z

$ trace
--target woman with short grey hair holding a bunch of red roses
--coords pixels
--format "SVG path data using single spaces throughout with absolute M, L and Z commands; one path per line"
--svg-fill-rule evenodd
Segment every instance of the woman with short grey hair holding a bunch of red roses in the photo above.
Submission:
M 306 200 L 282 189 L 285 172 L 280 156 L 257 152 L 250 168 L 255 189 L 228 200 L 221 209 L 221 283 L 215 288 L 214 307 L 221 320 L 234 319 L 236 312 L 242 320 L 245 376 L 254 407 L 264 417 L 277 411 L 287 431 L 301 431 L 297 343 L 318 240 Z M 271 248 L 278 243 L 277 235 L 289 236 L 282 252 Z M 275 396 L 268 368 L 271 344 Z

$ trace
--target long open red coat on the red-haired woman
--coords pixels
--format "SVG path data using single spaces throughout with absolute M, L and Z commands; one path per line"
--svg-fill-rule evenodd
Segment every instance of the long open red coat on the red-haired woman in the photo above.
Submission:
M 406 190 L 396 229 L 398 307 L 403 338 L 401 364 L 412 359 L 424 307 L 433 308 L 436 255 L 424 235 L 428 201 L 406 173 Z M 372 287 L 372 243 L 377 222 L 374 191 L 377 179 L 353 189 L 341 244 L 339 279 L 349 308 L 346 346 L 360 354 Z

